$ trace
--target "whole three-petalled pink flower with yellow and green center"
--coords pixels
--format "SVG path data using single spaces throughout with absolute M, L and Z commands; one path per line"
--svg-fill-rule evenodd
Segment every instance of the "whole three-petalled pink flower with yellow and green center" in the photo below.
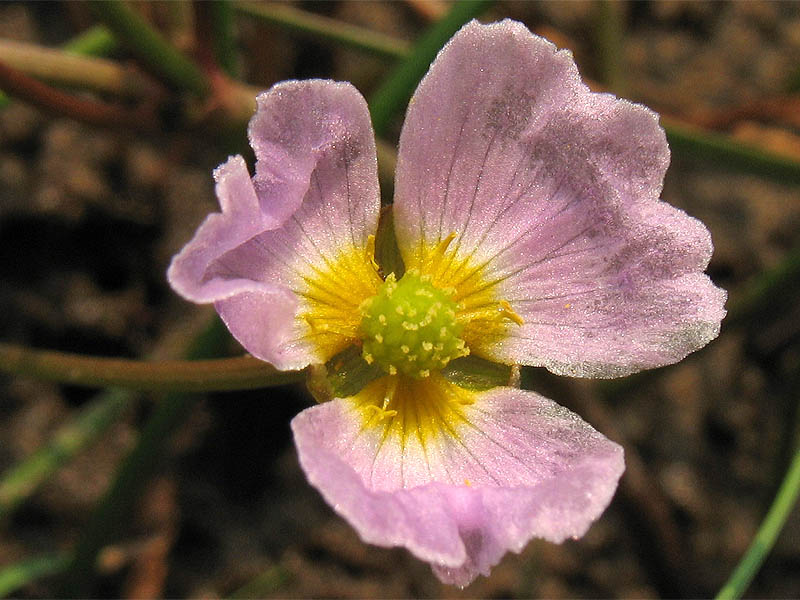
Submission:
M 375 141 L 355 88 L 277 84 L 249 134 L 255 176 L 239 156 L 215 171 L 222 213 L 169 280 L 280 369 L 356 348 L 380 375 L 292 421 L 312 485 L 364 541 L 404 546 L 457 585 L 532 537 L 581 536 L 622 448 L 534 392 L 443 369 L 470 354 L 617 377 L 716 337 L 709 233 L 659 200 L 658 117 L 591 93 L 568 51 L 520 23 L 466 25 L 400 137 L 402 277 L 374 259 Z

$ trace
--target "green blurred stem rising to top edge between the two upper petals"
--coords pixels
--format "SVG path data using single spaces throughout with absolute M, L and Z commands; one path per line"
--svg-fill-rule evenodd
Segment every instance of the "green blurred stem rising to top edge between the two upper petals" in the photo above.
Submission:
M 411 94 L 425 75 L 436 53 L 464 23 L 484 12 L 491 0 L 461 0 L 450 12 L 428 28 L 414 44 L 411 54 L 386 78 L 369 101 L 376 135 L 385 135 L 392 119 L 408 104 Z

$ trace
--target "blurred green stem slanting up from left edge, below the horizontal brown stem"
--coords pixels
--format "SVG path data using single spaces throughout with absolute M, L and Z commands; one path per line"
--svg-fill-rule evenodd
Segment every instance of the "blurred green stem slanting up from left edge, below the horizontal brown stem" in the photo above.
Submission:
M 4 474 L 0 479 L 0 523 L 29 498 L 39 485 L 95 442 L 116 422 L 130 399 L 131 393 L 123 390 L 104 392 L 82 408 L 76 419 L 61 427 L 44 448 Z

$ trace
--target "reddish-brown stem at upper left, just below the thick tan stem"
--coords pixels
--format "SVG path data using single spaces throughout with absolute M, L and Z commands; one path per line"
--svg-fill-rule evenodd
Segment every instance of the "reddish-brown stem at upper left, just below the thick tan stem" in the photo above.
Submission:
M 155 119 L 144 107 L 129 110 L 114 104 L 62 92 L 0 61 L 0 89 L 34 106 L 100 127 L 154 129 Z

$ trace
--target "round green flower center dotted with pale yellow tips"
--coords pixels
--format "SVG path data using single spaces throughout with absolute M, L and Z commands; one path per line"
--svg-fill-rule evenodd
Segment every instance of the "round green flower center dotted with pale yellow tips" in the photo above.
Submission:
M 378 293 L 361 305 L 364 360 L 390 375 L 422 379 L 469 354 L 459 338 L 463 325 L 456 321 L 459 306 L 451 296 L 415 270 L 400 281 L 390 273 Z

